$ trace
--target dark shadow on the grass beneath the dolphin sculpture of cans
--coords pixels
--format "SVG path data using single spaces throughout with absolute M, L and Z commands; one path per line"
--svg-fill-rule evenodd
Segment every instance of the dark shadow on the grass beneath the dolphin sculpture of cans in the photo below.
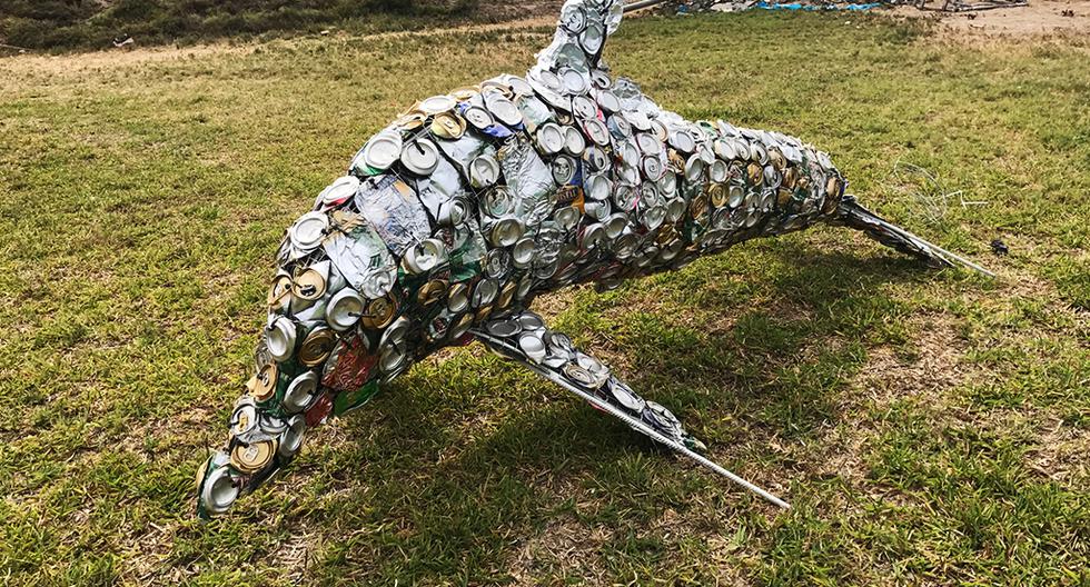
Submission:
M 869 329 L 886 321 L 883 311 L 896 309 L 880 286 L 929 272 L 912 259 L 821 253 L 793 239 L 776 245 L 771 256 L 790 262 L 787 270 L 755 277 L 774 295 L 702 300 L 703 311 L 734 316 L 734 328 L 690 329 L 695 336 L 681 337 L 680 345 L 658 345 L 654 359 L 642 364 L 630 380 L 638 392 L 673 409 L 697 436 L 706 438 L 711 432 L 713 456 L 722 455 L 723 447 L 732 458 L 763 455 L 759 458 L 765 465 L 783 471 L 792 464 L 769 452 L 767 441 L 810 435 L 821 422 L 838 418 L 833 396 L 865 360 L 862 341 L 869 338 Z M 686 271 L 714 278 L 705 266 Z M 678 328 L 687 327 L 672 324 L 668 317 L 655 328 L 637 327 L 621 350 L 646 355 L 644 347 L 663 338 L 656 329 L 668 334 Z M 829 345 L 833 339 L 846 344 Z M 537 399 L 545 389 L 553 398 L 564 395 L 528 375 L 511 375 L 514 364 L 490 357 L 468 360 L 470 365 L 456 369 L 479 369 L 480 378 L 454 379 L 439 390 L 410 375 L 370 408 L 382 410 L 383 417 L 346 422 L 348 434 L 368 438 L 346 458 L 364 459 L 356 470 L 360 485 L 373 493 L 337 499 L 320 517 L 337 526 L 377 529 L 370 539 L 328 547 L 317 567 L 319 576 L 344 579 L 345 564 L 366 560 L 367 566 L 377 565 L 360 570 L 368 575 L 502 580 L 511 565 L 509 553 L 517 550 L 512 537 L 536 534 L 531 528 L 541 531 L 557 513 L 574 507 L 575 494 L 585 498 L 588 486 L 601 490 L 597 495 L 606 503 L 596 515 L 616 521 L 617 516 L 651 519 L 660 506 L 683 508 L 685 493 L 694 484 L 700 489 L 720 482 L 682 474 L 677 460 L 662 458 L 667 451 L 652 448 L 650 440 L 581 401 Z M 497 384 L 488 371 L 515 379 Z M 455 400 L 478 397 L 489 386 L 499 387 L 495 391 L 504 400 L 519 402 L 517 408 L 503 410 L 508 416 L 490 434 L 472 426 L 469 431 L 452 431 L 452 416 L 474 419 L 452 415 L 452 396 Z M 423 392 L 417 392 L 420 388 Z M 463 409 L 473 410 L 473 402 Z M 726 430 L 714 420 L 701 426 L 702 414 L 724 412 L 733 418 Z M 468 441 L 458 435 L 468 436 Z M 437 459 L 450 451 L 452 444 L 465 446 L 453 458 Z M 628 499 L 631 495 L 644 497 Z M 480 569 L 496 574 L 482 576 Z

